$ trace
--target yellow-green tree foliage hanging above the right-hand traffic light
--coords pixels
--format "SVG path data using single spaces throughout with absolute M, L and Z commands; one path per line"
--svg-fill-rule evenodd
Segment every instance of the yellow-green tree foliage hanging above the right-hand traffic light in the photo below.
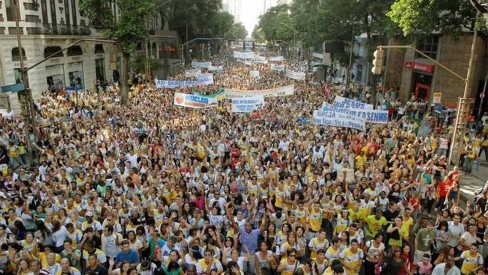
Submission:
M 469 0 L 397 0 L 387 15 L 413 37 L 432 32 L 458 35 L 463 29 L 473 30 L 476 21 Z

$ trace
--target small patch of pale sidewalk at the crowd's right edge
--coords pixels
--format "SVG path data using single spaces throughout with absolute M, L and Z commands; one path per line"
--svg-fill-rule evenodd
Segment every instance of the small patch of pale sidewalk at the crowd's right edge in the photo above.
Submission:
M 466 202 L 470 200 L 473 202 L 476 190 L 483 188 L 488 180 L 488 162 L 482 160 L 477 171 L 476 164 L 473 165 L 473 173 L 465 175 L 461 174 L 461 200 Z

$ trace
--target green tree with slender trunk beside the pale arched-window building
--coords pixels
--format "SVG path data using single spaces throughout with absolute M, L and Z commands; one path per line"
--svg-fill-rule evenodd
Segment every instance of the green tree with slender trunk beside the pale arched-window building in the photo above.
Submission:
M 100 30 L 106 38 L 117 42 L 121 52 L 120 95 L 121 103 L 126 104 L 129 94 L 129 58 L 137 43 L 147 38 L 145 18 L 154 10 L 152 0 L 118 0 L 120 14 L 115 20 L 109 1 L 80 0 L 80 11 L 90 20 L 93 27 Z

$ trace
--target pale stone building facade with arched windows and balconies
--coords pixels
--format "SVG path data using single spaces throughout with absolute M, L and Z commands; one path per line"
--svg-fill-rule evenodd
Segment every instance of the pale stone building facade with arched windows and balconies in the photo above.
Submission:
M 0 1 L 1 86 L 20 81 L 20 51 L 25 68 L 51 57 L 28 71 L 34 99 L 43 91 L 91 89 L 97 80 L 113 79 L 116 68 L 111 68 L 110 56 L 115 49 L 111 43 L 101 42 L 103 38 L 88 27 L 88 20 L 78 10 L 78 1 L 19 0 L 22 49 L 17 40 L 16 0 Z

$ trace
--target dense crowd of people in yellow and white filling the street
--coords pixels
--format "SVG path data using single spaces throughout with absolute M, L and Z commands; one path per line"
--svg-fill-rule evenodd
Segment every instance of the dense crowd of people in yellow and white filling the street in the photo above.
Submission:
M 0 118 L 3 274 L 485 274 L 488 191 L 460 207 L 446 121 L 405 104 L 366 132 L 314 125 L 326 84 L 219 58 L 214 85 L 141 83 L 126 106 L 117 87 L 42 96 L 32 152 Z M 248 114 L 173 105 L 289 84 Z

